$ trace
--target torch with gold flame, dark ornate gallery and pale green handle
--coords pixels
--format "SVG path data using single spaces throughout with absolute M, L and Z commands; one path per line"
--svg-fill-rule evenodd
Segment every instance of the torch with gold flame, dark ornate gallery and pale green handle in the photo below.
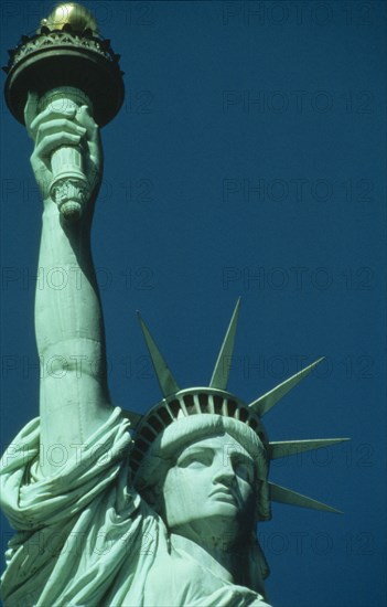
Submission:
M 37 111 L 49 106 L 76 110 L 87 105 L 99 127 L 112 120 L 122 105 L 120 55 L 99 34 L 94 15 L 79 4 L 58 6 L 9 55 L 3 67 L 6 102 L 22 125 L 29 93 L 36 96 Z M 82 215 L 93 188 L 83 163 L 82 146 L 61 146 L 51 156 L 49 194 L 68 221 Z

